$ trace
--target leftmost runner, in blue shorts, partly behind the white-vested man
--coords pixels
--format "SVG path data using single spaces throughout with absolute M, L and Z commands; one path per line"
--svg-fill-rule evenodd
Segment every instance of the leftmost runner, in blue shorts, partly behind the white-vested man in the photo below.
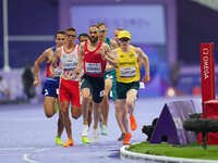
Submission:
M 57 103 L 57 98 L 58 98 L 58 89 L 59 89 L 59 78 L 60 78 L 60 67 L 56 67 L 56 74 L 55 78 L 50 76 L 50 64 L 53 60 L 53 53 L 57 48 L 63 46 L 65 43 L 65 32 L 57 32 L 56 34 L 56 46 L 48 48 L 38 57 L 38 59 L 34 63 L 34 86 L 38 87 L 39 86 L 39 77 L 38 77 L 38 70 L 39 65 L 46 61 L 47 66 L 46 66 L 46 80 L 44 83 L 44 88 L 43 88 L 43 95 L 44 95 L 44 110 L 45 114 L 47 117 L 53 116 L 56 113 L 56 103 Z M 56 137 L 56 143 L 57 145 L 63 145 L 61 141 L 61 134 L 63 131 L 63 122 L 62 117 L 59 112 L 59 120 L 58 120 L 58 134 Z

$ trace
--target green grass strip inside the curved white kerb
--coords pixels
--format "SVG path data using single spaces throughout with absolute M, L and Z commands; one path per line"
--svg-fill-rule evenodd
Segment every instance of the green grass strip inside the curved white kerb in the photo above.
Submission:
M 169 143 L 149 143 L 148 141 L 131 145 L 126 150 L 136 153 L 165 155 L 184 159 L 218 160 L 218 146 L 207 146 L 193 142 L 187 146 L 172 146 Z

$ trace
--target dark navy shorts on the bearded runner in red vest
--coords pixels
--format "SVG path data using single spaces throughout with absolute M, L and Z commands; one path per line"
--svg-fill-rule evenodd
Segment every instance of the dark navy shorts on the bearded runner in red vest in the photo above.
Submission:
M 105 91 L 105 79 L 104 77 L 93 77 L 88 75 L 83 75 L 81 90 L 83 88 L 89 88 L 93 96 L 93 101 L 95 103 L 100 103 L 102 101 Z

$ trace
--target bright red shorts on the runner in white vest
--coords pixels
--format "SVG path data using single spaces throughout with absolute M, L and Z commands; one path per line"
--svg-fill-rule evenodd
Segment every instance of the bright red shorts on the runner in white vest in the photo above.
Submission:
M 61 78 L 59 87 L 59 101 L 71 101 L 73 106 L 81 108 L 80 84 L 75 80 L 65 80 Z

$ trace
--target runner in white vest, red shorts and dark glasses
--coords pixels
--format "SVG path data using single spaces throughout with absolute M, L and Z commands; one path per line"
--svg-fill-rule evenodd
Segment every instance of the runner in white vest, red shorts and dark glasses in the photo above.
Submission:
M 69 117 L 69 106 L 71 102 L 71 113 L 74 118 L 81 115 L 80 98 L 80 76 L 74 72 L 78 61 L 78 46 L 75 45 L 76 30 L 66 29 L 66 43 L 57 50 L 57 57 L 61 61 L 62 74 L 59 89 L 60 112 L 63 116 L 63 124 L 68 135 L 64 147 L 73 146 L 71 120 Z

